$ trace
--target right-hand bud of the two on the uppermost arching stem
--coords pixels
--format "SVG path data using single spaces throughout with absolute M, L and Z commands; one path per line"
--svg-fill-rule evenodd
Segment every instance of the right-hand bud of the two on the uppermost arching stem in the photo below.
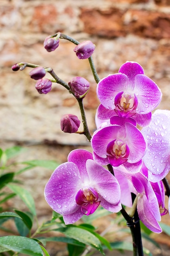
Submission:
M 91 41 L 87 40 L 76 45 L 74 52 L 78 58 L 85 59 L 89 58 L 94 53 L 95 47 L 96 46 Z

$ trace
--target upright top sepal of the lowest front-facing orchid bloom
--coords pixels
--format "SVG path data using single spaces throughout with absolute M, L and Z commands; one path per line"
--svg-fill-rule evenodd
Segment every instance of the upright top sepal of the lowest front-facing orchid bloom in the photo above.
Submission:
M 89 180 L 85 166 L 87 159 L 93 159 L 93 155 L 85 149 L 72 150 L 68 155 L 68 162 L 73 162 L 78 167 L 82 182 L 88 182 Z

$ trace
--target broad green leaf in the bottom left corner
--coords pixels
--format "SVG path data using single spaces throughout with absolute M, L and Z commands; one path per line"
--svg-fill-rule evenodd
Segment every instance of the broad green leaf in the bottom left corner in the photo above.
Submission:
M 39 244 L 35 240 L 24 236 L 2 236 L 0 237 L 0 246 L 1 252 L 12 250 L 32 256 L 43 256 Z M 2 247 L 4 247 L 4 250 L 2 250 Z

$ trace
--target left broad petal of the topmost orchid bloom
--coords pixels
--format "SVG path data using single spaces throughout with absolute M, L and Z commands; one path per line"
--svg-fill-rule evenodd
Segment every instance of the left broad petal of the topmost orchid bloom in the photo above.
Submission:
M 113 74 L 101 79 L 97 86 L 97 95 L 105 108 L 114 110 L 116 94 L 127 88 L 128 78 L 125 74 Z

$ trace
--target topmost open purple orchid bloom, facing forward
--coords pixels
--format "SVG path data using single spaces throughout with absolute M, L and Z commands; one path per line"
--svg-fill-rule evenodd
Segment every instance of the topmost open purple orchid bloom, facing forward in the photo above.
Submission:
M 162 97 L 158 86 L 144 75 L 143 68 L 136 62 L 126 62 L 118 74 L 101 79 L 97 95 L 104 108 L 114 110 L 121 117 L 133 116 L 141 126 L 149 124 L 151 111 Z

